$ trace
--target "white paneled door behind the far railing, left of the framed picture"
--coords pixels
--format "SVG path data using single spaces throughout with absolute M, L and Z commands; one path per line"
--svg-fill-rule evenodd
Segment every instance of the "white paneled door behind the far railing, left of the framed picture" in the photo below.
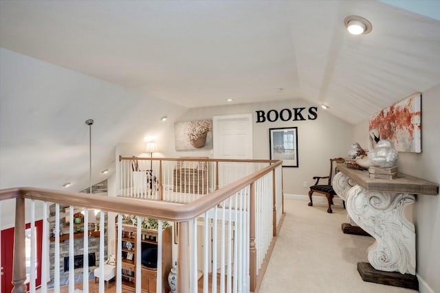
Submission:
M 252 114 L 214 116 L 214 159 L 252 159 Z M 219 163 L 219 187 L 252 172 L 247 163 Z

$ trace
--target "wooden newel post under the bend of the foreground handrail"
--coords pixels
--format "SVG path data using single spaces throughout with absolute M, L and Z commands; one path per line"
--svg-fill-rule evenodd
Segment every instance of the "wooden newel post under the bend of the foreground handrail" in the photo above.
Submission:
M 179 222 L 179 248 L 177 258 L 177 292 L 190 292 L 190 253 L 189 253 L 189 223 Z

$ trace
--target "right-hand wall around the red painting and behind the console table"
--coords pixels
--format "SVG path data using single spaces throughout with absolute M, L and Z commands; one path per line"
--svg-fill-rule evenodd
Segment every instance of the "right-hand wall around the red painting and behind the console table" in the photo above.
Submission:
M 440 183 L 440 84 L 422 93 L 422 152 L 400 152 L 399 172 Z M 402 97 L 403 99 L 404 97 Z M 353 141 L 362 145 L 368 137 L 368 121 L 353 128 Z M 363 145 L 362 145 L 363 146 Z M 440 292 L 440 197 L 416 196 L 413 207 L 416 229 L 417 274 L 421 293 Z M 426 282 L 426 283 L 425 283 Z

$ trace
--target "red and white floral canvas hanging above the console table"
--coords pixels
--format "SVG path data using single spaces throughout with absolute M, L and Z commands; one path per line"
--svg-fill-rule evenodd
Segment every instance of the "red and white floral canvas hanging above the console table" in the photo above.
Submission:
M 397 151 L 421 152 L 421 93 L 384 108 L 369 122 L 369 130 L 377 129 L 379 138 L 392 141 Z

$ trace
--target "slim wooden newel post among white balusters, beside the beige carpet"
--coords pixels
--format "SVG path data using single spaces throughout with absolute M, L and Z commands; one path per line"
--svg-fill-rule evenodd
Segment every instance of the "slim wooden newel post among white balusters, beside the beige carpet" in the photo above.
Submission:
M 255 247 L 255 185 L 250 184 L 250 207 L 249 207 L 249 274 L 250 291 L 255 292 L 256 288 L 256 247 Z

